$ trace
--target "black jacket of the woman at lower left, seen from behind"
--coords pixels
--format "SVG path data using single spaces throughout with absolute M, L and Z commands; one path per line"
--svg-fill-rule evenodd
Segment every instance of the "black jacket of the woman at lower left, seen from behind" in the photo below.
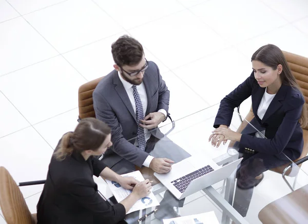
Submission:
M 120 203 L 110 206 L 99 195 L 93 180 L 93 174 L 99 176 L 105 167 L 97 158 L 90 156 L 85 160 L 79 153 L 63 161 L 52 157 L 37 203 L 37 224 L 102 224 L 123 220 L 124 206 Z

